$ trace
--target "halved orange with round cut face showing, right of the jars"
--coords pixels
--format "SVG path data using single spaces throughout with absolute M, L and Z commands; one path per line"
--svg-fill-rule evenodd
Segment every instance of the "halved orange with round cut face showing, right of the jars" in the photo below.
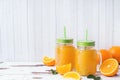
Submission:
M 114 76 L 118 72 L 118 61 L 114 58 L 106 59 L 100 66 L 100 72 L 105 76 Z

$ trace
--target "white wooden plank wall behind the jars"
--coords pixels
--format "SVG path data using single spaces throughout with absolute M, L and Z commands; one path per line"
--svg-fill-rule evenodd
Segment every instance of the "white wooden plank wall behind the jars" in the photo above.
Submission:
M 96 49 L 120 45 L 120 0 L 0 0 L 0 61 L 54 57 L 56 38 L 96 41 Z

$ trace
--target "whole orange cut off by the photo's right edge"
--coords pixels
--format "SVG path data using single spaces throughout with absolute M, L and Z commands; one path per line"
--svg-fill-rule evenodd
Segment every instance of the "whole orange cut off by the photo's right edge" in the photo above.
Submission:
M 109 52 L 112 54 L 112 57 L 120 63 L 120 46 L 112 46 Z

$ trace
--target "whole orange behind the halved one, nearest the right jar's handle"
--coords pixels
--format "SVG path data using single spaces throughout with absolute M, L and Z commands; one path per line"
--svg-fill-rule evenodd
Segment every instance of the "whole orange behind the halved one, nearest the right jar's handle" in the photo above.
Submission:
M 101 49 L 100 50 L 100 55 L 101 55 L 101 59 L 102 62 L 105 61 L 108 58 L 112 58 L 112 55 L 110 54 L 110 52 L 106 49 Z M 99 59 L 100 60 L 100 59 Z

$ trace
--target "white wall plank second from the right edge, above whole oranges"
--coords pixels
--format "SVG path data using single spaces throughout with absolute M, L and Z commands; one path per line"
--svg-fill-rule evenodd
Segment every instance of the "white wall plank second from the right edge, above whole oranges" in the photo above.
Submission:
M 106 0 L 105 1 L 105 46 L 108 49 L 113 45 L 113 27 L 114 27 L 114 6 L 113 0 Z

